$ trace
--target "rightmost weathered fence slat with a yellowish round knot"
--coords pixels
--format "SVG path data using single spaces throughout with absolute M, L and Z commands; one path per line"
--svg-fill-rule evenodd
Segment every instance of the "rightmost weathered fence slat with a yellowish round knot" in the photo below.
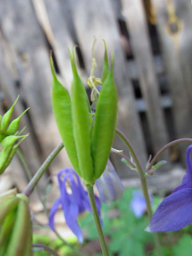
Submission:
M 153 0 L 152 3 L 156 13 L 164 66 L 173 100 L 173 116 L 177 138 L 191 138 L 191 1 Z M 186 145 L 180 144 L 180 149 L 183 163 L 185 163 Z

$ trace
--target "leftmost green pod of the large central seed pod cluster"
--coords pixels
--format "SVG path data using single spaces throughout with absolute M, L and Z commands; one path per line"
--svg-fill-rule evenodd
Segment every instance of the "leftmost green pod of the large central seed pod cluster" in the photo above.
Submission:
M 57 127 L 59 129 L 61 139 L 68 153 L 68 157 L 74 169 L 79 176 L 82 177 L 78 158 L 76 153 L 76 145 L 73 137 L 73 125 L 71 115 L 71 100 L 68 91 L 58 81 L 53 68 L 52 57 L 50 58 L 53 84 L 52 84 L 52 109 Z

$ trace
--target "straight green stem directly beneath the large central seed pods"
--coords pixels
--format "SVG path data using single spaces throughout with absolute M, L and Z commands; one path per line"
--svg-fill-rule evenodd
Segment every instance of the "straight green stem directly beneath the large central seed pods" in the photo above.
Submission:
M 98 236 L 99 236 L 99 241 L 100 241 L 100 245 L 101 245 L 103 255 L 104 256 L 109 256 L 108 250 L 107 250 L 107 245 L 106 245 L 106 242 L 105 242 L 105 238 L 104 238 L 103 231 L 102 231 L 101 224 L 100 224 L 100 220 L 99 220 L 99 214 L 97 212 L 97 206 L 96 206 L 96 203 L 95 203 L 95 195 L 94 195 L 94 191 L 93 191 L 93 186 L 86 185 L 86 188 L 87 188 L 89 201 L 90 201 L 91 209 L 92 209 L 92 215 L 93 215 L 93 219 L 95 221 L 95 226 L 97 228 L 97 233 L 98 233 Z

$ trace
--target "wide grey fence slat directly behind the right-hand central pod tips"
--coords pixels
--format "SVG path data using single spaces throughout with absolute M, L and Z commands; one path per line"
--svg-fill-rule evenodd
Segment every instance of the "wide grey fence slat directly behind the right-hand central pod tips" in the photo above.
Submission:
M 64 4 L 61 1 L 62 4 Z M 92 1 L 70 1 L 73 20 L 78 36 L 80 48 L 83 52 L 84 62 L 87 72 L 91 70 L 92 56 L 91 47 L 93 36 L 96 36 L 98 42 L 95 47 L 95 57 L 98 64 L 98 70 L 101 71 L 104 51 L 102 50 L 105 39 L 108 52 L 114 49 L 115 55 L 115 80 L 119 94 L 119 113 L 117 127 L 120 128 L 130 139 L 136 152 L 140 156 L 142 164 L 146 161 L 146 150 L 143 140 L 143 134 L 140 127 L 139 118 L 135 108 L 135 101 L 127 70 L 125 69 L 125 57 L 120 45 L 120 36 L 116 25 L 116 20 L 112 14 L 111 3 L 108 0 Z M 98 72 L 96 73 L 98 75 Z M 100 75 L 99 75 L 100 76 Z M 115 140 L 114 147 L 123 149 L 127 154 L 127 149 L 120 139 Z M 127 168 L 120 162 L 120 157 L 115 156 L 115 166 L 118 168 L 120 175 L 124 176 Z

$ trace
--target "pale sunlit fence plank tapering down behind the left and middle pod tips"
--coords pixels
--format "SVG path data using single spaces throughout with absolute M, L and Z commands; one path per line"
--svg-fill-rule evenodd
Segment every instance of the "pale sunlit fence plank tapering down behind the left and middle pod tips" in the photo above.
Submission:
M 37 18 L 53 47 L 63 84 L 70 92 L 72 72 L 68 49 L 71 51 L 74 43 L 66 27 L 61 5 L 58 0 L 33 0 L 33 4 Z

